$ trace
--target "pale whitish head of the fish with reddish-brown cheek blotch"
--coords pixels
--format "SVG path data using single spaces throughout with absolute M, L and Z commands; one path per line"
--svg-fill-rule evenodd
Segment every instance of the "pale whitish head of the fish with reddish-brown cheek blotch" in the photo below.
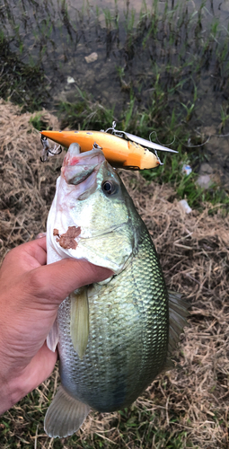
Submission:
M 107 192 L 104 180 L 117 185 L 117 189 Z M 78 144 L 69 146 L 57 180 L 55 198 L 48 228 L 49 241 L 58 256 L 86 259 L 118 274 L 130 259 L 135 242 L 129 242 L 125 233 L 125 227 L 131 226 L 131 217 L 125 207 L 122 210 L 125 198 L 119 176 L 113 172 L 101 149 L 80 153 Z M 111 198 L 119 207 L 111 207 L 110 215 Z M 117 250 L 118 241 L 123 242 L 124 251 Z

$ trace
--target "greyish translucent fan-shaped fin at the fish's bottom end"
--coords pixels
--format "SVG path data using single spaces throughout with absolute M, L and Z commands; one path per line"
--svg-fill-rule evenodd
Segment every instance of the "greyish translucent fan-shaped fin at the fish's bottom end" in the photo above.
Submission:
M 73 435 L 82 426 L 90 407 L 72 398 L 60 385 L 45 417 L 48 436 L 59 438 Z

